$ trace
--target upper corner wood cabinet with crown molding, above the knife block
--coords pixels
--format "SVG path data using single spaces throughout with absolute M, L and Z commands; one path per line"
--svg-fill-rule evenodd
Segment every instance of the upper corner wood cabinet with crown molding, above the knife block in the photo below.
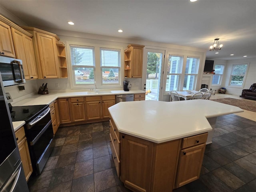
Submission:
M 58 50 L 56 42 L 58 36 L 33 27 L 22 27 L 33 35 L 33 45 L 36 58 L 38 78 L 58 78 Z

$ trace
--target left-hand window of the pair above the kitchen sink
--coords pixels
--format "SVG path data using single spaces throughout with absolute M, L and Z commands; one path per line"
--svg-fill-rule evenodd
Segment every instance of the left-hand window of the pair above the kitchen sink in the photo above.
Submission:
M 71 65 L 75 85 L 94 85 L 94 47 L 70 46 Z

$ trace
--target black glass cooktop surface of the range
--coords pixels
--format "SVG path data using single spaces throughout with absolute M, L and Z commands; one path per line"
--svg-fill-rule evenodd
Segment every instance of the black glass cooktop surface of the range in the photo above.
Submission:
M 35 118 L 47 107 L 48 105 L 9 106 L 12 121 L 26 121 L 26 123 Z

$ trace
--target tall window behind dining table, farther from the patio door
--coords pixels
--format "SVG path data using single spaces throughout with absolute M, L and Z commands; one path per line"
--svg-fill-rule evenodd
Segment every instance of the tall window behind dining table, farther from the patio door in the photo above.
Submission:
M 199 62 L 199 58 L 187 58 L 183 90 L 195 89 Z

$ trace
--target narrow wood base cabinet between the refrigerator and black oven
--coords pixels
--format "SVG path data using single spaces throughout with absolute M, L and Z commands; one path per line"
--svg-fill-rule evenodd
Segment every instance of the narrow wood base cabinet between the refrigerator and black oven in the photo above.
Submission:
M 31 163 L 30 154 L 28 150 L 28 142 L 27 142 L 27 138 L 25 137 L 24 127 L 21 127 L 20 129 L 18 129 L 15 132 L 15 136 L 18 143 L 18 149 L 20 152 L 20 158 L 21 158 L 22 166 L 26 176 L 26 181 L 28 181 L 30 175 L 33 172 L 33 169 L 32 169 L 32 163 Z

